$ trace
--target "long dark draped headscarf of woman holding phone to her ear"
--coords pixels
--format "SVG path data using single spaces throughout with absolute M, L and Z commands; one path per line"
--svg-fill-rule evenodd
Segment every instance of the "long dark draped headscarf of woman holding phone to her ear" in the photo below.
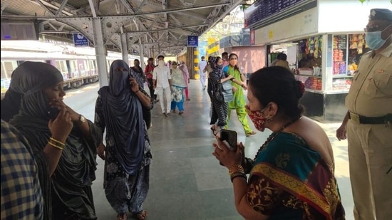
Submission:
M 110 141 L 108 137 L 115 137 L 116 158 L 125 172 L 135 174 L 140 168 L 145 147 L 143 111 L 137 95 L 130 90 L 128 71 L 115 71 L 120 67 L 129 70 L 124 61 L 113 61 L 109 86 L 100 88 L 98 94 L 103 103 L 106 142 Z

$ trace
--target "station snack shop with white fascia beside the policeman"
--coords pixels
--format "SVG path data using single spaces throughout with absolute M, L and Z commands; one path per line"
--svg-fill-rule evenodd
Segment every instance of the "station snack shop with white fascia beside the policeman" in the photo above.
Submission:
M 306 116 L 319 122 L 341 122 L 347 111 L 344 100 L 359 59 L 370 51 L 363 31 L 367 15 L 370 9 L 386 8 L 388 4 L 371 1 L 362 5 L 354 0 L 334 4 L 329 0 L 297 2 L 269 16 L 273 23 L 264 19 L 259 26 L 249 25 L 254 33 L 251 38 L 254 45 L 266 47 L 266 66 L 277 53 L 287 54 L 295 78 L 305 84 L 301 104 Z M 342 14 L 350 19 L 342 19 Z

